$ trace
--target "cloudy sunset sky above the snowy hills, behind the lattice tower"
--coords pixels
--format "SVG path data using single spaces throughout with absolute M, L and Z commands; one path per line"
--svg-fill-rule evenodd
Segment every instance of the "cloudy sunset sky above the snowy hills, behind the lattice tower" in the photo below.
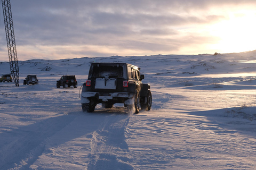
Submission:
M 11 0 L 18 60 L 255 50 L 255 0 Z M 0 61 L 9 61 L 0 10 Z

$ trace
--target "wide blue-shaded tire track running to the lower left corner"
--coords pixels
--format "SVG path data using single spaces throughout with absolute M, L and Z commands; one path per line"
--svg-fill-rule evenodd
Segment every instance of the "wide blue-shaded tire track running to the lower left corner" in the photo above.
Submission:
M 46 140 L 76 115 L 63 115 L 0 134 L 0 169 L 29 169 L 45 150 Z M 22 133 L 20 133 L 22 132 Z

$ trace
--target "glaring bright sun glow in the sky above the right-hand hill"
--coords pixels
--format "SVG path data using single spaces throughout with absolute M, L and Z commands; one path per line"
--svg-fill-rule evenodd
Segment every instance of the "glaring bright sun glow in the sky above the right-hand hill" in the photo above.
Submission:
M 219 37 L 213 48 L 221 53 L 236 53 L 255 50 L 255 12 L 243 11 L 230 14 L 229 20 L 213 25 L 212 35 Z

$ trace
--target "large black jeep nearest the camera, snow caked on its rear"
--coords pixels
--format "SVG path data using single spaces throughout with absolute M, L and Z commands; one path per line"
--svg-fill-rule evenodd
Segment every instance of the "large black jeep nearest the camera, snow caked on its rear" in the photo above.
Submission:
M 83 111 L 93 112 L 99 103 L 105 108 L 123 103 L 129 112 L 136 114 L 140 107 L 150 110 L 150 85 L 141 82 L 144 75 L 139 70 L 127 63 L 92 63 L 81 94 Z

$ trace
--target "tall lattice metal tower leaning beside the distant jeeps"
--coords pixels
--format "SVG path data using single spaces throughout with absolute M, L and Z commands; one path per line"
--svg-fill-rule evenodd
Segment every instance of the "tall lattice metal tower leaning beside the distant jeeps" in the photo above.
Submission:
M 19 81 L 20 81 L 19 65 L 18 65 L 17 50 L 16 50 L 15 38 L 14 38 L 14 29 L 13 29 L 13 22 L 12 22 L 12 11 L 11 11 L 10 0 L 2 0 L 2 6 L 3 6 L 3 13 L 4 13 L 4 26 L 5 26 L 11 74 L 12 74 L 12 78 L 14 80 L 15 85 L 19 86 Z

